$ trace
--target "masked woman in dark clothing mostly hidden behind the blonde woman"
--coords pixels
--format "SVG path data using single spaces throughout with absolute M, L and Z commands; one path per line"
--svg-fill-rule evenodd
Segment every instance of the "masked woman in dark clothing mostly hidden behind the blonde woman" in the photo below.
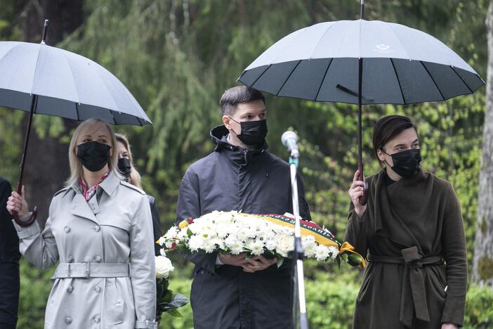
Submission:
M 137 169 L 133 167 L 133 157 L 130 148 L 129 139 L 123 134 L 114 134 L 117 137 L 117 150 L 118 150 L 118 170 L 120 174 L 124 176 L 127 183 L 131 183 L 133 186 L 137 186 L 142 189 L 142 179 Z M 156 207 L 156 200 L 152 195 L 147 194 L 149 199 L 149 205 L 152 214 L 152 231 L 154 233 L 154 241 L 157 241 L 163 235 L 161 228 L 161 222 L 159 221 L 159 212 Z M 157 243 L 154 244 L 156 256 L 159 256 L 161 246 Z

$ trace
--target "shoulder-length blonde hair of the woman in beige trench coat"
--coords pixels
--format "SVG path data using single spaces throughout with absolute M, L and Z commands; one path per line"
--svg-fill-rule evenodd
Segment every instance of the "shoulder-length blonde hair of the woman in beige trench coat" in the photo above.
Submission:
M 93 131 L 100 127 L 106 127 L 108 131 L 110 132 L 111 136 L 111 147 L 113 149 L 112 155 L 110 157 L 110 160 L 108 161 L 108 167 L 112 171 L 114 175 L 118 177 L 118 179 L 123 179 L 121 174 L 118 172 L 118 152 L 115 149 L 115 146 L 117 145 L 117 138 L 114 136 L 113 129 L 111 128 L 110 124 L 107 124 L 103 120 L 99 119 L 88 119 L 85 120 L 84 122 L 81 122 L 77 129 L 74 131 L 74 135 L 72 136 L 72 139 L 70 140 L 70 146 L 69 146 L 69 164 L 70 164 L 70 177 L 67 179 L 65 182 L 65 186 L 72 186 L 79 177 L 82 176 L 82 164 L 81 161 L 79 160 L 79 157 L 77 157 L 77 145 L 81 143 L 81 138 L 83 136 L 86 136 L 88 134 L 91 134 Z

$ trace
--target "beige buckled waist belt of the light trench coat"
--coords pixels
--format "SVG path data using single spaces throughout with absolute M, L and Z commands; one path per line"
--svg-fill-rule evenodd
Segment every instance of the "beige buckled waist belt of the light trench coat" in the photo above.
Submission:
M 51 278 L 117 278 L 129 277 L 129 263 L 60 263 Z

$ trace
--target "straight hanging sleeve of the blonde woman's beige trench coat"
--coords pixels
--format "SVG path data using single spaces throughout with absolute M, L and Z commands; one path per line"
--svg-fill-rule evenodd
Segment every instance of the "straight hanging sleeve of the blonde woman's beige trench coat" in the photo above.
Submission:
M 130 265 L 136 328 L 155 328 L 156 274 L 152 216 L 146 195 L 141 195 L 130 231 Z

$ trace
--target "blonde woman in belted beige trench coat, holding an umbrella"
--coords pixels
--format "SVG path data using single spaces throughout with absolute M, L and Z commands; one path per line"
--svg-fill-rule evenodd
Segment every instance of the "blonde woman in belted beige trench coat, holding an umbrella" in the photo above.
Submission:
M 40 269 L 60 262 L 46 304 L 46 329 L 156 328 L 149 201 L 121 181 L 116 145 L 108 124 L 82 122 L 70 142 L 71 177 L 53 196 L 44 230 L 37 221 L 15 224 L 29 262 Z M 27 220 L 23 194 L 13 192 L 7 209 Z

